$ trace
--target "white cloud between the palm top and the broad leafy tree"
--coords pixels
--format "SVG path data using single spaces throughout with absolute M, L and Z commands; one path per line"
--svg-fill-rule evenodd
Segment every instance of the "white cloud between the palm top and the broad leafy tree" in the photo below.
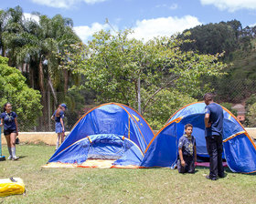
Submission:
M 107 24 L 99 24 L 99 23 L 93 23 L 90 26 L 74 26 L 74 30 L 78 36 L 80 36 L 80 39 L 82 42 L 87 43 L 87 41 L 91 38 L 91 36 L 100 30 L 107 30 L 110 29 L 110 26 Z

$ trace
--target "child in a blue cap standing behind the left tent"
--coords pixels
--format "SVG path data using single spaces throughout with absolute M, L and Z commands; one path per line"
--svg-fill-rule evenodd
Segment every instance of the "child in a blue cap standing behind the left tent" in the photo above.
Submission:
M 65 127 L 63 118 L 66 109 L 66 104 L 60 104 L 51 117 L 51 119 L 55 121 L 55 132 L 58 134 L 55 150 L 59 148 L 59 139 L 61 138 L 61 143 L 64 141 Z

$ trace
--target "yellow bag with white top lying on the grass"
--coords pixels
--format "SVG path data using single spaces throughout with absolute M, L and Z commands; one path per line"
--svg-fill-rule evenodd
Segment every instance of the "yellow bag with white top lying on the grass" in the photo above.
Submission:
M 23 194 L 25 185 L 20 178 L 0 179 L 0 197 Z

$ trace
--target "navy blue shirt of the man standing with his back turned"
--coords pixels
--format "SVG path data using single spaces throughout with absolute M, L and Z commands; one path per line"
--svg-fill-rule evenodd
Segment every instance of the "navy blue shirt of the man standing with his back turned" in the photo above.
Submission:
M 209 114 L 210 128 L 206 128 L 206 137 L 221 136 L 223 131 L 223 109 L 219 104 L 211 103 L 206 109 L 205 113 Z

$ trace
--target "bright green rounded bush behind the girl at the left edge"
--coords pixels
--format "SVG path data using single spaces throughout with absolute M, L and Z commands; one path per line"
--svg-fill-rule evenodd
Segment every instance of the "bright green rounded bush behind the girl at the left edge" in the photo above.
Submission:
M 18 116 L 20 130 L 37 125 L 41 116 L 40 94 L 27 87 L 26 78 L 14 67 L 7 66 L 8 59 L 0 56 L 0 106 L 10 102 Z

